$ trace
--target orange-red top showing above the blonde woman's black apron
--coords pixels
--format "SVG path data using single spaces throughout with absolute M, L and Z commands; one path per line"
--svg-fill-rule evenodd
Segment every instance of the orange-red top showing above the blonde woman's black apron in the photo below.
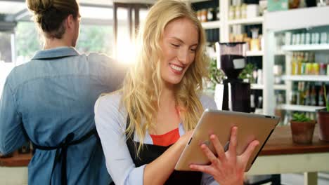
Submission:
M 150 135 L 154 145 L 169 146 L 179 139 L 179 128 L 169 131 L 163 135 Z

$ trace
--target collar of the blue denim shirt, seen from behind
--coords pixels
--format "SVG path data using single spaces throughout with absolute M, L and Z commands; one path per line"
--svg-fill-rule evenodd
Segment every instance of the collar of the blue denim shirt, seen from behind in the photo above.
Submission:
M 68 56 L 75 56 L 79 55 L 79 52 L 75 50 L 73 47 L 59 47 L 53 48 L 49 50 L 38 50 L 32 60 L 34 59 L 49 59 L 49 58 L 56 58 L 56 57 L 68 57 Z

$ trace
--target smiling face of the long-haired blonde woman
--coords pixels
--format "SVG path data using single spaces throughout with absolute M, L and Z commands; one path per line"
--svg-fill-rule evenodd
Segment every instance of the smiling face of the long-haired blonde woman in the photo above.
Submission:
M 178 18 L 164 28 L 160 47 L 162 60 L 161 78 L 166 85 L 181 82 L 186 70 L 195 59 L 198 47 L 198 29 L 191 20 Z

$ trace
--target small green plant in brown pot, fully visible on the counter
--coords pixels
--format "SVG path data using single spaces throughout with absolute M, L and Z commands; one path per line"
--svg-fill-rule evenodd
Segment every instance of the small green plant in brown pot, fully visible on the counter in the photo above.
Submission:
M 295 113 L 290 121 L 292 142 L 297 144 L 311 144 L 316 122 L 307 118 L 305 114 Z

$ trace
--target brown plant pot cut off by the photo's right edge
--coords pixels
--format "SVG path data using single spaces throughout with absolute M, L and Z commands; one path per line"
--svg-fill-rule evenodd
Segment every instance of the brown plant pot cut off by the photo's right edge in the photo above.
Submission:
M 326 109 L 317 111 L 318 137 L 320 140 L 329 142 L 329 112 Z

